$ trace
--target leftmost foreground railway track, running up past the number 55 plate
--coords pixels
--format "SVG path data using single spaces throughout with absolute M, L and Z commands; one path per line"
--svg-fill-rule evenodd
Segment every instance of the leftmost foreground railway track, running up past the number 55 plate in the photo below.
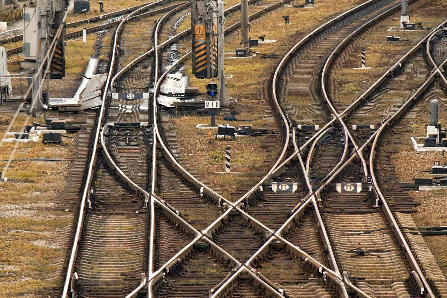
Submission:
M 113 39 L 113 49 L 117 49 L 118 43 L 126 44 L 129 41 L 127 34 L 132 34 L 132 31 L 127 29 L 132 27 L 128 22 L 132 17 L 133 19 L 141 18 L 141 13 L 144 16 L 166 15 L 166 11 L 170 14 L 173 8 L 181 5 L 185 5 L 184 2 L 165 5 L 165 8 L 149 12 L 144 12 L 144 7 L 135 10 L 118 26 Z M 148 23 L 152 23 L 152 21 Z M 150 41 L 152 30 L 149 29 L 141 34 L 140 38 L 148 38 Z M 113 50 L 108 81 L 113 73 L 122 68 L 120 67 L 122 60 L 128 58 L 133 52 L 129 50 L 127 55 L 121 55 L 119 59 L 116 59 L 115 54 L 116 51 Z M 111 157 L 107 157 L 115 159 L 132 179 L 147 189 L 148 183 L 150 183 L 150 159 L 152 157 L 152 132 L 148 126 L 151 121 L 151 114 L 148 113 L 149 103 L 148 101 L 129 102 L 111 99 L 107 104 L 108 107 L 102 121 L 124 122 L 124 125 L 111 126 L 107 130 L 104 142 L 106 145 L 104 146 L 109 147 L 111 152 Z M 132 113 L 132 109 L 135 108 L 139 113 Z M 103 116 L 102 111 L 101 109 L 99 119 Z M 139 121 L 141 125 L 132 125 L 136 121 Z M 101 123 L 101 120 L 99 122 Z M 130 125 L 125 124 L 129 122 L 131 122 Z M 97 134 L 99 129 L 100 126 L 97 126 Z M 97 147 L 97 143 L 94 144 L 94 147 Z M 147 197 L 142 192 L 131 189 L 128 183 L 122 180 L 114 168 L 107 163 L 104 155 L 101 152 L 96 152 L 95 149 L 93 148 L 89 177 L 87 177 L 81 201 L 81 215 L 73 241 L 74 245 L 67 269 L 69 274 L 63 289 L 63 297 L 67 295 L 69 284 L 72 296 L 76 297 L 97 297 L 98 295 L 123 297 L 131 294 L 140 281 L 145 280 L 143 272 L 148 272 L 152 218 L 146 208 Z M 147 173 L 149 175 L 146 175 Z M 86 203 L 87 208 L 85 209 L 84 204 Z M 80 233 L 80 227 L 82 227 L 82 233 Z M 71 274 L 72 272 L 73 274 Z

